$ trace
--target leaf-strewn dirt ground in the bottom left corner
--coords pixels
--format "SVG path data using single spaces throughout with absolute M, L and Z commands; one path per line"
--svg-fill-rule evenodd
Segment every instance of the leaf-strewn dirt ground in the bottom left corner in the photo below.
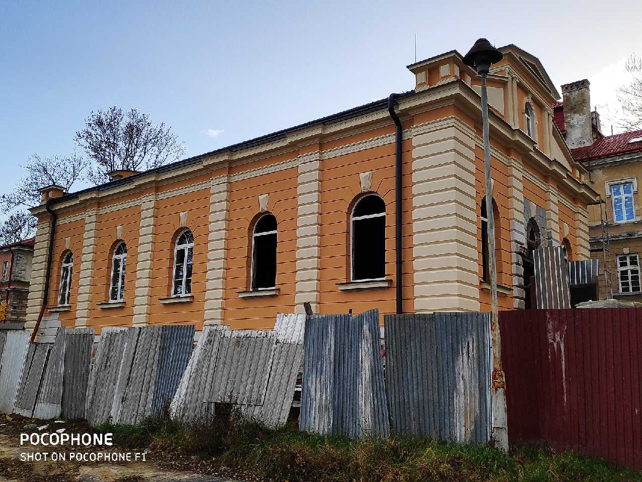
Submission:
M 25 428 L 31 424 L 37 427 Z M 48 425 L 39 431 L 38 427 Z M 244 474 L 238 476 L 230 470 L 211 467 L 200 458 L 177 457 L 175 454 L 161 454 L 148 451 L 134 451 L 120 447 L 44 447 L 20 445 L 20 434 L 54 433 L 64 429 L 65 433 L 87 433 L 83 422 L 53 422 L 24 418 L 19 415 L 0 414 L 0 482 L 248 482 L 256 481 Z M 48 453 L 47 460 L 44 453 Z M 51 460 L 51 452 L 64 454 L 66 460 Z M 75 461 L 69 460 L 71 452 L 98 454 L 131 452 L 132 461 Z M 135 461 L 135 452 L 146 461 Z M 41 460 L 21 460 L 26 455 L 40 453 Z M 233 477 L 233 478 L 232 478 Z

